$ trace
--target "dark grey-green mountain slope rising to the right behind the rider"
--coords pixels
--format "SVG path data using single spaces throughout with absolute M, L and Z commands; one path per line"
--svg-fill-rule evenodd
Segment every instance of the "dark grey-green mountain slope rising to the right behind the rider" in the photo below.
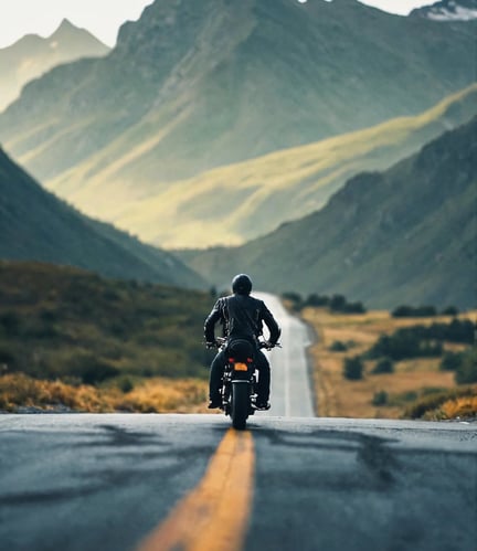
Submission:
M 477 117 L 265 237 L 181 256 L 216 285 L 247 272 L 264 290 L 475 308 L 476 159 Z

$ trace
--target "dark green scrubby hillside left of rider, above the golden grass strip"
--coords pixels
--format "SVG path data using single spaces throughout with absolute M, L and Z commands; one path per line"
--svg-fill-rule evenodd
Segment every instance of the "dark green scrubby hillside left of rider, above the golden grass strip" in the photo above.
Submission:
M 124 377 L 206 379 L 213 298 L 72 267 L 0 263 L 3 373 L 102 385 Z

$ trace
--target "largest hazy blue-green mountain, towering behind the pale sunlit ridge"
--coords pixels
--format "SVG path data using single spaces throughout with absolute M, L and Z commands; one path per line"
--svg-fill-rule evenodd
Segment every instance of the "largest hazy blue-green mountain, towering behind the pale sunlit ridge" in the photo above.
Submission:
M 474 83 L 475 32 L 358 0 L 157 0 L 106 57 L 26 85 L 0 140 L 61 197 L 89 187 L 82 209 L 114 222 L 108 204 L 422 113 Z

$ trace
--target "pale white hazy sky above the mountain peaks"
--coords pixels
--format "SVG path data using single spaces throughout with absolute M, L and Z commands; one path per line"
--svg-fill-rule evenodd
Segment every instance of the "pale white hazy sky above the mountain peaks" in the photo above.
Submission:
M 401 14 L 407 14 L 418 6 L 434 3 L 434 0 L 360 1 Z M 29 33 L 49 36 L 64 18 L 112 46 L 121 23 L 138 19 L 150 3 L 152 0 L 0 0 L 0 47 Z

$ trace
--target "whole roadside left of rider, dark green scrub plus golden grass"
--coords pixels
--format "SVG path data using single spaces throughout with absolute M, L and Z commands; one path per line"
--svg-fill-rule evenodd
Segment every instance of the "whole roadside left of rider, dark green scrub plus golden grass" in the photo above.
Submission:
M 0 410 L 201 411 L 213 297 L 0 263 Z

